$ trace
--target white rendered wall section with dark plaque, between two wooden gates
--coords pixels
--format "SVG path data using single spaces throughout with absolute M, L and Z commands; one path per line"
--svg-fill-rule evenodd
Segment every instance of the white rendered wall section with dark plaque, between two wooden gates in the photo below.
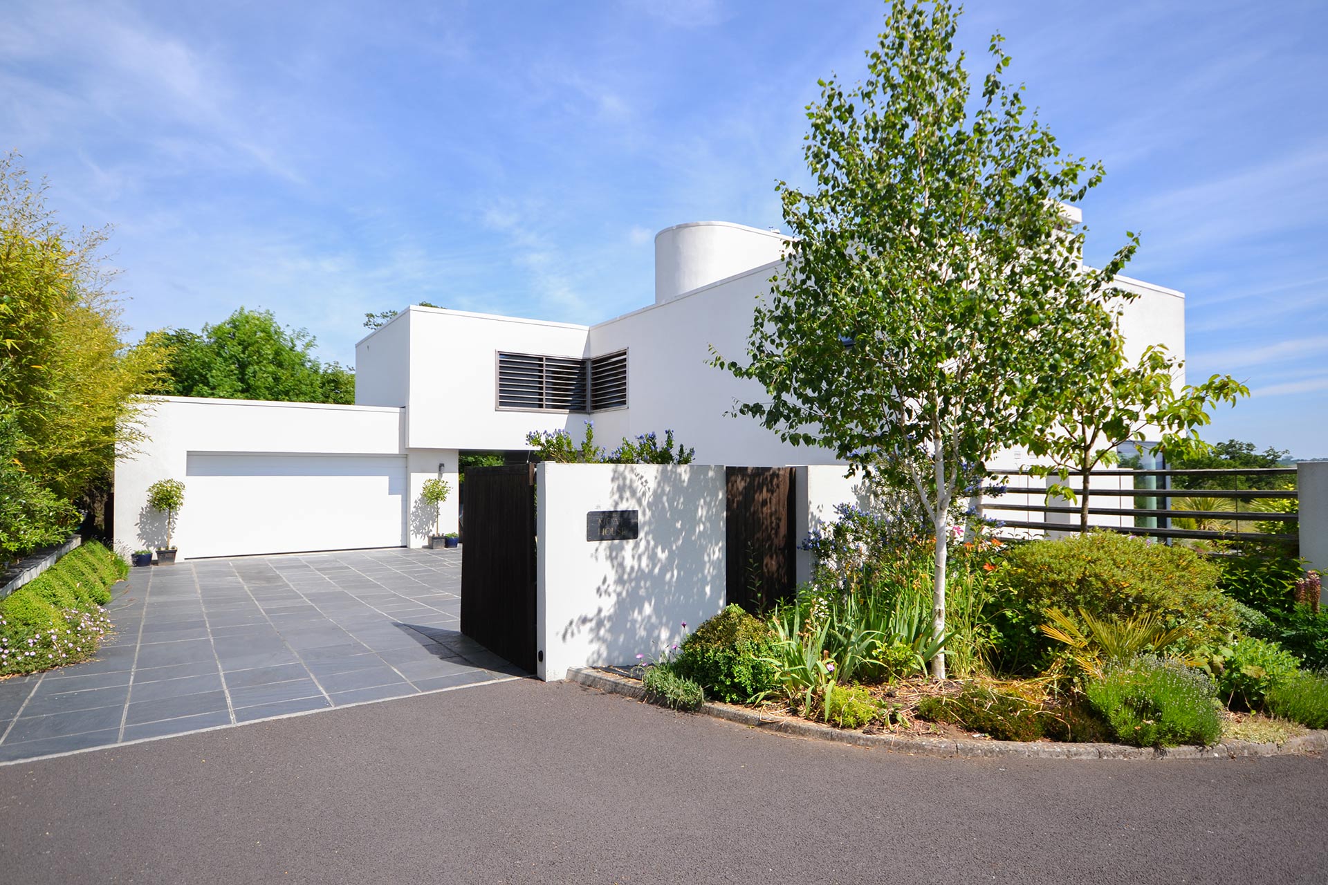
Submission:
M 539 678 L 657 657 L 724 609 L 724 467 L 540 464 Z M 587 541 L 586 513 L 639 511 L 636 540 Z

